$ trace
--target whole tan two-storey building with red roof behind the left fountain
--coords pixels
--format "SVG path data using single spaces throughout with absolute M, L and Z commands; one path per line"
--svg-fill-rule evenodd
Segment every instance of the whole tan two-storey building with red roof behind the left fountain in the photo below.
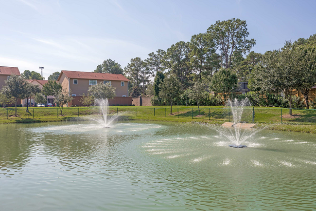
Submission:
M 72 105 L 81 105 L 79 102 L 80 97 L 83 94 L 87 95 L 88 88 L 98 83 L 109 83 L 116 88 L 116 97 L 114 100 L 110 100 L 111 105 L 132 104 L 132 98 L 128 96 L 129 80 L 122 74 L 62 70 L 57 81 L 59 81 L 67 91 L 69 91 L 69 89 L 71 90 L 71 96 L 73 97 Z

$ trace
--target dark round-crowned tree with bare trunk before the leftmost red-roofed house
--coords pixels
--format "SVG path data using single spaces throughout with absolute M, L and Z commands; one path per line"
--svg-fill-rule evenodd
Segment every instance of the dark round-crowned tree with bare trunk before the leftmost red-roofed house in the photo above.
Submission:
M 15 116 L 17 116 L 17 103 L 18 98 L 23 98 L 27 92 L 28 82 L 20 76 L 12 75 L 8 80 L 5 81 L 5 85 L 2 87 L 2 94 L 7 98 L 14 97 L 15 102 Z

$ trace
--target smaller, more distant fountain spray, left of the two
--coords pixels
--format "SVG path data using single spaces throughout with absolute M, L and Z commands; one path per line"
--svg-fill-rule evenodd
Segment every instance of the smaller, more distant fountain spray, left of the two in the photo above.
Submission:
M 94 100 L 95 106 L 98 106 L 100 108 L 101 114 L 94 117 L 89 117 L 91 120 L 94 120 L 102 125 L 104 128 L 109 128 L 111 123 L 117 119 L 118 115 L 108 115 L 108 100 L 105 99 L 95 99 Z

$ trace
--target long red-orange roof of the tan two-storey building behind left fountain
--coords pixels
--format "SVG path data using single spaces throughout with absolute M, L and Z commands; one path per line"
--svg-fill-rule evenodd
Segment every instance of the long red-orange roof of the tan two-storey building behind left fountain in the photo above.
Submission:
M 62 73 L 64 73 L 65 76 L 68 78 L 129 81 L 122 74 L 80 72 L 80 71 L 70 71 L 70 70 L 62 70 L 57 80 L 60 79 Z

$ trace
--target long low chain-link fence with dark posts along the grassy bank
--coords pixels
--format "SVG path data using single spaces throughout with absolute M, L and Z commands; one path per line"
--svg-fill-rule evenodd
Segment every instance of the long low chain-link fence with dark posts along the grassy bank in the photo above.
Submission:
M 195 120 L 233 121 L 230 108 L 162 108 L 162 107 L 109 107 L 109 115 L 155 116 L 168 118 L 191 118 Z M 292 113 L 292 114 L 291 114 Z M 58 107 L 50 108 L 1 108 L 0 119 L 44 119 L 64 117 L 85 117 L 101 115 L 99 107 L 66 107 L 61 111 Z M 244 108 L 241 118 L 245 123 L 282 123 L 282 124 L 316 124 L 316 109 L 287 108 Z

